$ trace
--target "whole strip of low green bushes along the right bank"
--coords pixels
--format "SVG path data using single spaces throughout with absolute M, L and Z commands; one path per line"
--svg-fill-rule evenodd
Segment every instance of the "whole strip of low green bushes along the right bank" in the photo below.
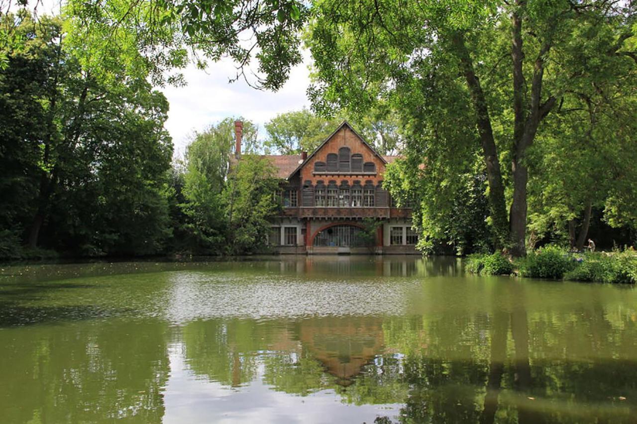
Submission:
M 479 275 L 513 275 L 527 278 L 590 283 L 637 283 L 637 251 L 573 252 L 559 246 L 543 246 L 523 258 L 502 253 L 468 255 L 466 271 Z

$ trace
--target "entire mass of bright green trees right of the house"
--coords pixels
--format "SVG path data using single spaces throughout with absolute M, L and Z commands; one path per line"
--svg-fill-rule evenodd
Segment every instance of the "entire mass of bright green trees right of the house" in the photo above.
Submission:
M 390 187 L 415 191 L 426 240 L 454 239 L 464 210 L 444 198 L 466 173 L 486 176 L 489 239 L 513 256 L 527 223 L 532 245 L 569 223 L 585 236 L 591 204 L 631 223 L 633 5 L 325 0 L 311 11 L 314 107 L 396 111 L 410 169 Z

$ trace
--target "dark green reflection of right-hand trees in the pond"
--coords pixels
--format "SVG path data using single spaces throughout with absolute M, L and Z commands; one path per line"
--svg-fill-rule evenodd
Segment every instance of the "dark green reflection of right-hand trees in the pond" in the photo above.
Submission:
M 633 422 L 633 310 L 610 314 L 592 293 L 567 309 L 555 297 L 529 299 L 534 290 L 507 284 L 489 290 L 486 283 L 477 297 L 454 299 L 447 313 L 432 301 L 423 315 L 384 320 L 386 350 L 404 354 L 395 378 L 409 388 L 400 420 Z M 445 293 L 433 284 L 424 290 L 431 299 Z

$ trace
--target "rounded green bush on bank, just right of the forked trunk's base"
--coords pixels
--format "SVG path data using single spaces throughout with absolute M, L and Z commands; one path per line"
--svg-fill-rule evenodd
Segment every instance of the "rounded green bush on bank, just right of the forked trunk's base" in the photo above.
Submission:
M 517 262 L 520 276 L 562 279 L 576 265 L 569 253 L 557 246 L 544 246 Z

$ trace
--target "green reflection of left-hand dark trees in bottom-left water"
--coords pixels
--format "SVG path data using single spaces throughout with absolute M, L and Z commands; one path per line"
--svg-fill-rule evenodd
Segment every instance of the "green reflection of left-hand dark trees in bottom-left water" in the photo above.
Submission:
M 160 423 L 166 330 L 161 322 L 111 320 L 1 331 L 3 421 Z

